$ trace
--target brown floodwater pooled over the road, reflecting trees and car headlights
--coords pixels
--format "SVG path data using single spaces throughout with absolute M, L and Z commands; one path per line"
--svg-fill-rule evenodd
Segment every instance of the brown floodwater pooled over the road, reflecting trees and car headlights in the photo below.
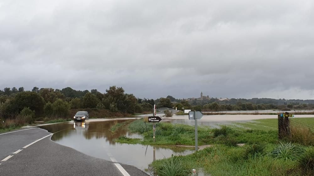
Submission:
M 116 123 L 132 122 L 133 120 L 112 120 L 98 122 L 69 122 L 59 123 L 40 128 L 48 130 L 51 140 L 64 146 L 74 148 L 82 153 L 106 160 L 116 159 L 117 162 L 133 165 L 141 170 L 148 168 L 154 160 L 168 158 L 171 155 L 187 155 L 194 148 L 176 146 L 152 146 L 141 144 L 116 143 L 115 138 L 127 136 L 141 138 L 138 134 L 130 133 L 121 127 L 112 133 L 110 128 Z

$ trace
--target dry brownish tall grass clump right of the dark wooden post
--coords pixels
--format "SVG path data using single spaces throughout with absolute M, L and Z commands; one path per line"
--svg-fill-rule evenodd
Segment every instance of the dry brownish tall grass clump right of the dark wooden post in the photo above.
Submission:
M 302 145 L 314 145 L 314 133 L 310 128 L 291 126 L 289 141 Z

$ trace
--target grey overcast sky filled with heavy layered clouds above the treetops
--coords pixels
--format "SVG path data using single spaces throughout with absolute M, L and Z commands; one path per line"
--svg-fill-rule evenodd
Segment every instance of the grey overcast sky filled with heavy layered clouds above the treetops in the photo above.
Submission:
M 0 0 L 0 89 L 314 99 L 312 0 Z

